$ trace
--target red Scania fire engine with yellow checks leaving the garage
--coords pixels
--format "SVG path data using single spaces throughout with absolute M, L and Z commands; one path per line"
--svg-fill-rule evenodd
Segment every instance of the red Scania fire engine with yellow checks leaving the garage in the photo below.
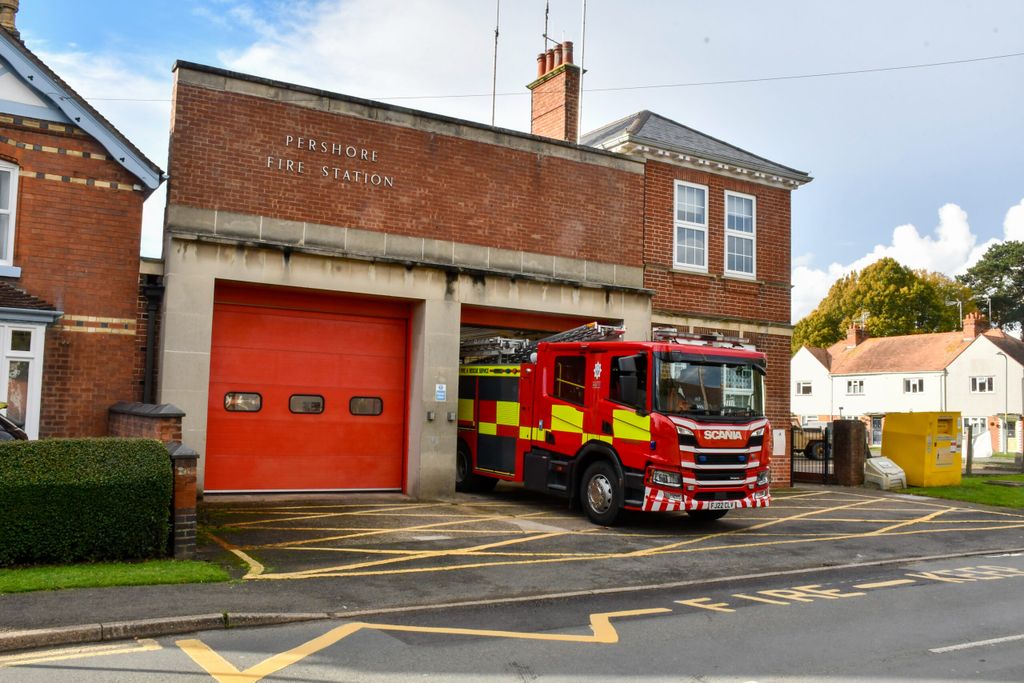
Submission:
M 674 332 L 628 342 L 590 324 L 537 343 L 464 345 L 456 487 L 519 481 L 599 524 L 623 510 L 710 520 L 767 507 L 764 354 Z

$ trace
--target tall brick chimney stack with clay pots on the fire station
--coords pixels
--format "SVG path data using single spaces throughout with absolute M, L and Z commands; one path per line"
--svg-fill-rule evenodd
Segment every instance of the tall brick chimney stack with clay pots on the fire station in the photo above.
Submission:
M 537 80 L 529 132 L 575 142 L 580 132 L 580 67 L 572 63 L 572 41 L 537 55 Z

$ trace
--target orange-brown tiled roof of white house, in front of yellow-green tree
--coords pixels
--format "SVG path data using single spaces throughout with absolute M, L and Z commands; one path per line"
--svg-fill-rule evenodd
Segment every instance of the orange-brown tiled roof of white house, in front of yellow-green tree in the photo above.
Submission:
M 971 345 L 964 332 L 870 337 L 853 348 L 843 339 L 828 347 L 833 375 L 939 372 Z

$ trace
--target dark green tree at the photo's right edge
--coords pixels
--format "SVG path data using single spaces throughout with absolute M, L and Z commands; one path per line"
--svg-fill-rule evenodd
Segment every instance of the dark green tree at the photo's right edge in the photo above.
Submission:
M 1024 242 L 992 245 L 956 280 L 979 296 L 992 298 L 992 322 L 1004 330 L 1024 324 Z

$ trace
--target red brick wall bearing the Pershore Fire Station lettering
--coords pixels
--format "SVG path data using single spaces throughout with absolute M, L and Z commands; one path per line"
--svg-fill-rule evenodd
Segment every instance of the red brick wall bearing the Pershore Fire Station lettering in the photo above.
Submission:
M 312 96 L 312 95 L 310 95 Z M 376 151 L 376 163 L 286 135 Z M 267 169 L 267 157 L 305 163 Z M 322 176 L 324 165 L 394 178 Z M 641 265 L 643 176 L 178 83 L 168 203 Z

